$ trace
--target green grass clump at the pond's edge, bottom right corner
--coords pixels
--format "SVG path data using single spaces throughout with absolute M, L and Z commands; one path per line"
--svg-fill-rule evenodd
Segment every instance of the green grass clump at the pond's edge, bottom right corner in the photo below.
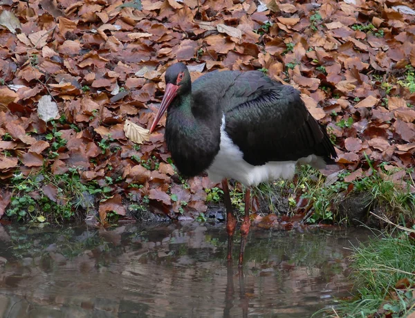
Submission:
M 350 259 L 352 278 L 356 281 L 353 294 L 357 296 L 340 302 L 340 307 L 335 308 L 337 317 L 405 317 L 414 311 L 415 244 L 412 234 L 380 234 L 354 247 Z M 396 286 L 400 280 L 409 286 Z

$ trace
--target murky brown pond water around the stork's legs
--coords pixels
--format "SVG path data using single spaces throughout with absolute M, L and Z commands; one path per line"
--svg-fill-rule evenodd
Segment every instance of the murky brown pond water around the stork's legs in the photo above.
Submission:
M 253 229 L 239 272 L 223 225 L 8 225 L 0 317 L 310 317 L 348 294 L 347 247 L 366 237 Z

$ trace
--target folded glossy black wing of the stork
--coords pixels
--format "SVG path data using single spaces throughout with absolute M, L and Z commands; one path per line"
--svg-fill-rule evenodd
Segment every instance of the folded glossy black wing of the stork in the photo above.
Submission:
M 337 157 L 325 127 L 308 112 L 292 86 L 260 72 L 240 73 L 224 99 L 225 131 L 251 165 L 311 154 L 326 162 Z

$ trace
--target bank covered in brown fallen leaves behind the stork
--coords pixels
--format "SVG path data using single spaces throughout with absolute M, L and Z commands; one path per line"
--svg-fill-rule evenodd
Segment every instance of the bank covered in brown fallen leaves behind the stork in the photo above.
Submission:
M 95 208 L 102 223 L 144 205 L 172 219 L 205 213 L 214 185 L 178 176 L 165 120 L 142 144 L 126 137 L 140 140 L 131 129 L 154 120 L 177 61 L 192 79 L 256 69 L 295 86 L 335 143 L 338 167 L 322 171 L 331 182 L 380 171 L 414 194 L 414 4 L 292 2 L 3 1 L 0 217 L 43 221 L 58 206 L 63 218 Z

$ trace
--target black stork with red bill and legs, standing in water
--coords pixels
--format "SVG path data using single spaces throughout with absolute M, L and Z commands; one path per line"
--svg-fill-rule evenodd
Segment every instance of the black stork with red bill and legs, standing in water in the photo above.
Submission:
M 250 186 L 291 180 L 295 166 L 322 169 L 336 152 L 326 129 L 308 112 L 299 92 L 259 71 L 214 71 L 193 83 L 183 63 L 167 68 L 165 95 L 150 133 L 167 111 L 165 140 L 178 171 L 203 171 L 222 182 L 228 260 L 237 220 L 228 178 L 246 186 L 239 265 L 250 228 Z

